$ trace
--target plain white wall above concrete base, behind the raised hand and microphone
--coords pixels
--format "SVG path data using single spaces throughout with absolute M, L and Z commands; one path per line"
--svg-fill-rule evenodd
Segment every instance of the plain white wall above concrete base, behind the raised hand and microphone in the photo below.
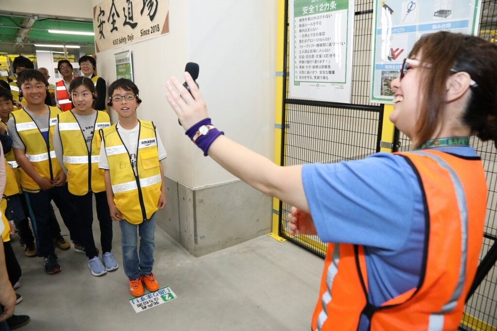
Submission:
M 158 127 L 167 151 L 166 175 L 192 188 L 235 177 L 203 157 L 167 103 L 166 80 L 173 75 L 182 80 L 187 62 L 200 66 L 197 81 L 213 124 L 240 144 L 270 159 L 273 155 L 276 3 L 222 4 L 170 0 L 169 34 L 97 54 L 98 75 L 110 84 L 114 54 L 132 51 L 134 81 L 143 100 L 138 117 Z M 111 118 L 116 120 L 113 111 Z

